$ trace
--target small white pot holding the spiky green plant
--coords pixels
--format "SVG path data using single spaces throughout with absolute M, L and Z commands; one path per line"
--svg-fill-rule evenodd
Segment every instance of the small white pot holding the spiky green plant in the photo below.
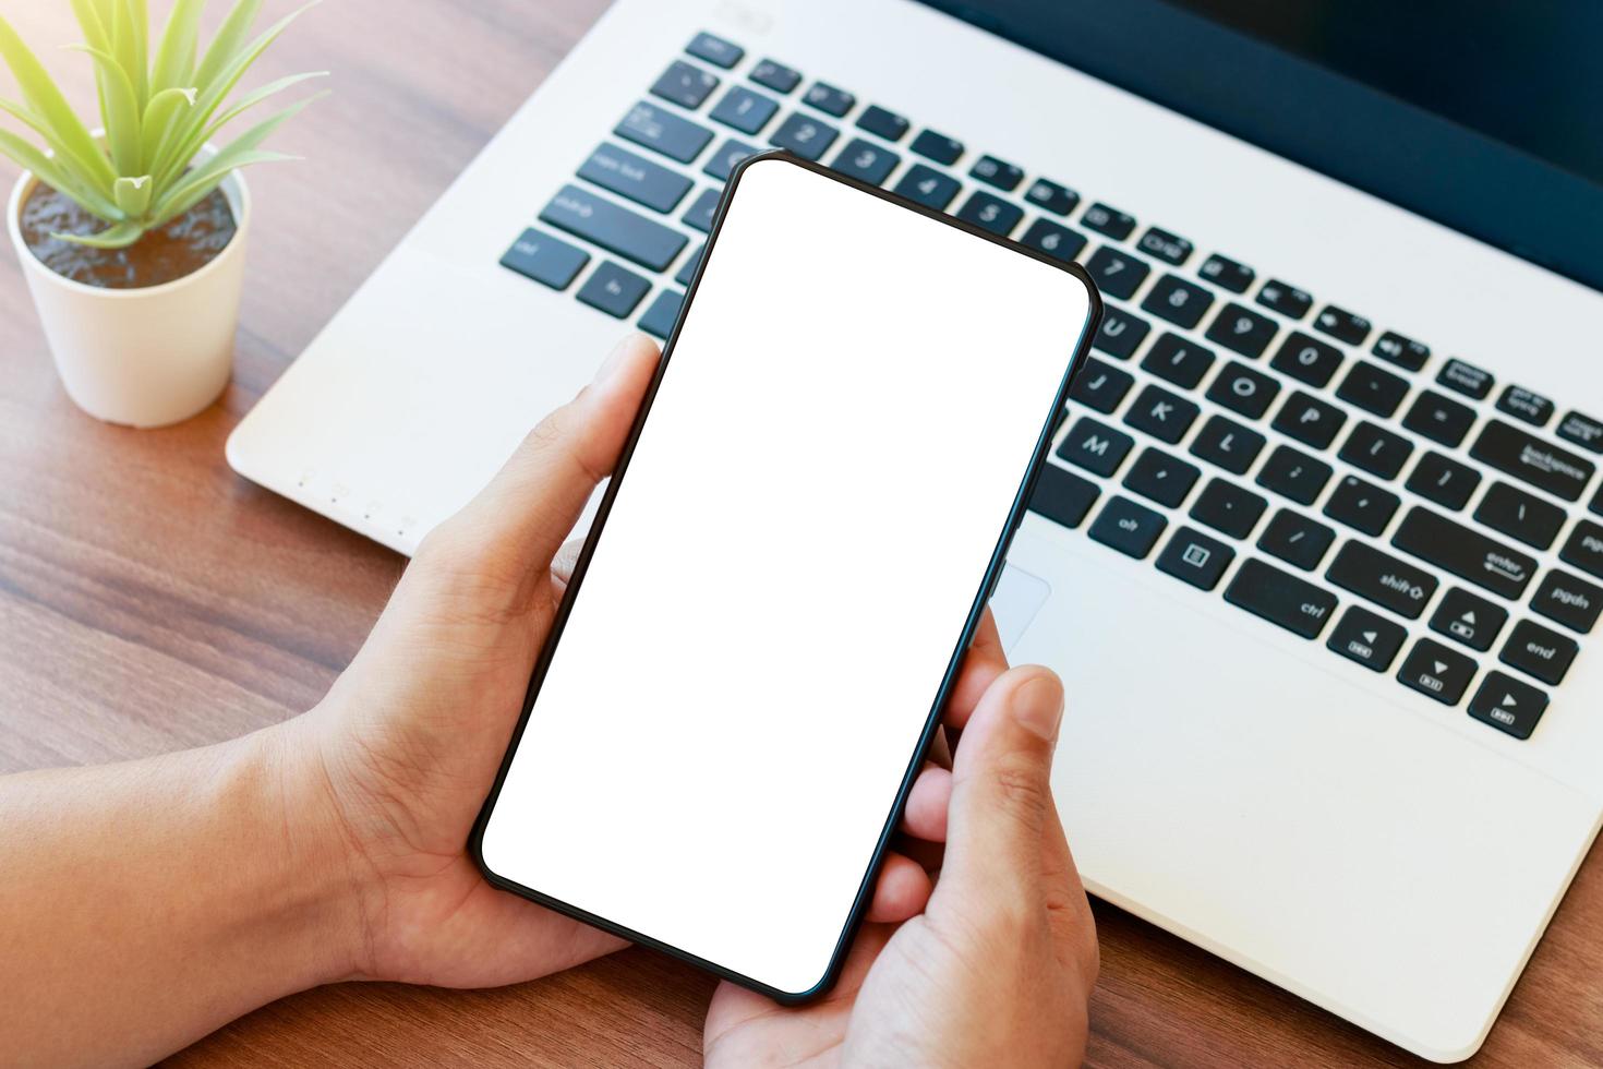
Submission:
M 223 181 L 236 232 L 199 271 L 164 285 L 106 290 L 46 268 L 22 240 L 22 205 L 38 180 L 11 191 L 6 229 L 67 396 L 90 415 L 128 426 L 167 426 L 210 405 L 234 369 L 245 282 L 250 192 L 239 171 Z

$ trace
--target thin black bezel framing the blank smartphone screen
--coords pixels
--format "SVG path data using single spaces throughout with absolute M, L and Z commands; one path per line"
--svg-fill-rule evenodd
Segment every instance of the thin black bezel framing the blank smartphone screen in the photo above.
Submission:
M 1010 510 L 1010 513 L 1007 516 L 1007 522 L 1002 527 L 1002 534 L 997 539 L 997 545 L 995 545 L 995 550 L 992 551 L 991 563 L 986 567 L 986 574 L 984 574 L 984 577 L 983 577 L 983 580 L 979 583 L 979 588 L 978 588 L 976 596 L 975 596 L 975 603 L 970 607 L 968 619 L 963 623 L 963 630 L 962 630 L 962 635 L 960 635 L 960 638 L 957 641 L 957 646 L 952 651 L 952 657 L 947 662 L 946 675 L 943 676 L 939 691 L 936 692 L 935 702 L 930 707 L 930 715 L 925 718 L 925 726 L 923 726 L 923 731 L 920 732 L 919 740 L 917 740 L 917 744 L 914 747 L 912 758 L 909 760 L 907 768 L 902 773 L 901 785 L 896 790 L 896 800 L 894 800 L 894 803 L 891 806 L 891 811 L 890 811 L 890 814 L 888 814 L 888 817 L 885 821 L 885 825 L 883 825 L 883 829 L 880 832 L 880 838 L 875 843 L 874 856 L 869 859 L 869 867 L 866 869 L 866 872 L 862 875 L 862 881 L 858 885 L 858 894 L 853 899 L 851 912 L 848 914 L 846 923 L 843 925 L 840 938 L 835 942 L 835 947 L 834 947 L 834 950 L 830 954 L 829 966 L 824 970 L 824 974 L 819 978 L 819 981 L 813 987 L 810 987 L 808 990 L 803 990 L 803 992 L 779 990 L 779 989 L 771 987 L 769 984 L 765 984 L 765 982 L 761 982 L 758 979 L 753 979 L 750 976 L 744 976 L 741 973 L 736 973 L 734 970 L 725 968 L 725 966 L 718 965 L 717 962 L 710 962 L 707 958 L 702 958 L 702 957 L 697 957 L 697 955 L 689 954 L 686 950 L 681 950 L 680 947 L 670 946 L 670 944 L 667 944 L 667 942 L 664 942 L 660 939 L 654 939 L 654 938 L 648 936 L 646 933 L 633 931 L 633 930 L 630 930 L 630 928 L 627 928 L 624 925 L 617 925 L 617 923 L 608 920 L 606 917 L 598 917 L 596 914 L 592 914 L 592 912 L 583 910 L 583 909 L 580 909 L 577 906 L 572 906 L 571 902 L 564 902 L 561 899 L 556 899 L 556 898 L 551 898 L 551 896 L 543 894 L 540 891 L 535 891 L 534 888 L 524 886 L 524 885 L 521 885 L 521 883 L 518 883 L 515 880 L 508 880 L 508 878 L 499 875 L 497 872 L 494 872 L 486 864 L 484 853 L 483 853 L 484 830 L 489 825 L 491 813 L 495 809 L 495 801 L 500 797 L 502 784 L 507 781 L 507 773 L 511 768 L 511 760 L 513 760 L 513 756 L 518 752 L 518 745 L 523 740 L 523 732 L 524 732 L 524 729 L 529 724 L 531 713 L 534 712 L 534 702 L 539 697 L 540 683 L 545 680 L 545 673 L 550 668 L 553 656 L 556 654 L 556 646 L 561 641 L 563 628 L 567 623 L 567 617 L 569 617 L 569 612 L 572 609 L 572 604 L 574 604 L 575 598 L 579 596 L 579 590 L 583 585 L 585 571 L 590 566 L 590 558 L 595 553 L 595 547 L 596 547 L 596 543 L 600 540 L 601 530 L 606 527 L 606 519 L 608 519 L 608 514 L 611 513 L 612 500 L 617 497 L 619 486 L 622 484 L 624 476 L 628 471 L 628 462 L 630 462 L 630 458 L 635 454 L 635 446 L 640 441 L 640 434 L 641 434 L 641 430 L 644 428 L 646 417 L 651 412 L 651 405 L 656 401 L 657 389 L 662 385 L 664 373 L 667 372 L 668 362 L 673 357 L 673 345 L 678 340 L 680 325 L 684 322 L 684 316 L 689 311 L 691 303 L 696 300 L 696 290 L 701 287 L 702 274 L 707 269 L 707 263 L 712 260 L 712 253 L 713 253 L 713 248 L 715 248 L 717 240 L 718 240 L 718 232 L 723 228 L 725 216 L 729 212 L 729 205 L 734 200 L 734 196 L 736 196 L 736 192 L 737 192 L 737 189 L 741 186 L 741 180 L 745 175 L 745 171 L 749 171 L 752 167 L 763 165 L 763 163 L 774 163 L 774 162 L 782 162 L 782 163 L 792 165 L 792 167 L 802 167 L 802 168 L 810 170 L 810 171 L 813 171 L 813 173 L 816 173 L 819 176 L 829 178 L 832 181 L 842 183 L 842 184 L 850 186 L 853 189 L 858 189 L 861 192 L 870 194 L 874 197 L 880 197 L 882 200 L 888 200 L 888 202 L 896 204 L 899 207 L 904 207 L 904 208 L 909 208 L 912 212 L 917 212 L 917 213 L 920 213 L 920 215 L 923 215 L 923 216 L 927 216 L 930 220 L 935 220 L 935 221 L 938 221 L 938 223 L 941 223 L 944 226 L 957 228 L 960 231 L 973 234 L 975 237 L 981 237 L 981 239 L 989 240 L 992 244 L 1003 245 L 1003 247 L 1011 248 L 1011 250 L 1015 250 L 1015 252 L 1018 252 L 1021 255 L 1026 255 L 1026 256 L 1029 256 L 1032 260 L 1037 260 L 1037 261 L 1045 263 L 1048 266 L 1058 268 L 1063 272 L 1074 276 L 1085 287 L 1087 298 L 1088 298 L 1088 314 L 1085 317 L 1085 322 L 1080 327 L 1080 335 L 1076 340 L 1074 349 L 1069 354 L 1068 362 L 1064 364 L 1063 381 L 1058 386 L 1058 394 L 1056 394 L 1056 397 L 1053 401 L 1052 410 L 1045 415 L 1040 436 L 1036 441 L 1036 450 L 1034 450 L 1034 454 L 1031 457 L 1029 471 L 1024 474 L 1024 479 L 1020 484 L 1018 494 L 1013 498 L 1013 508 Z M 696 276 L 691 279 L 691 285 L 686 290 L 684 300 L 680 305 L 680 314 L 678 314 L 678 317 L 673 322 L 673 330 L 668 333 L 668 338 L 664 343 L 662 359 L 657 362 L 657 369 L 656 369 L 656 372 L 654 372 L 654 375 L 651 378 L 651 383 L 649 383 L 649 386 L 646 389 L 646 396 L 641 401 L 640 412 L 636 413 L 635 423 L 630 428 L 628 439 L 625 441 L 624 450 L 619 455 L 619 462 L 617 462 L 617 466 L 616 466 L 616 470 L 612 473 L 612 479 L 608 484 L 608 489 L 606 489 L 606 492 L 601 497 L 601 503 L 600 503 L 600 506 L 596 510 L 595 521 L 592 522 L 590 530 L 585 535 L 583 548 L 580 550 L 579 559 L 574 564 L 572 579 L 569 579 L 569 582 L 567 582 L 567 588 L 566 588 L 566 591 L 563 595 L 563 601 L 558 606 L 556 617 L 551 622 L 551 631 L 547 636 L 543 646 L 540 647 L 540 656 L 535 660 L 532 675 L 529 676 L 529 689 L 527 689 L 527 692 L 524 696 L 523 713 L 518 718 L 518 726 L 513 729 L 511 740 L 507 744 L 507 755 L 502 758 L 500 769 L 495 773 L 495 782 L 491 787 L 489 797 L 484 800 L 484 806 L 479 809 L 479 816 L 473 822 L 473 830 L 471 830 L 471 833 L 468 837 L 468 845 L 466 845 L 468 846 L 468 856 L 473 859 L 474 865 L 478 865 L 478 869 L 484 875 L 484 878 L 492 886 L 495 886 L 495 888 L 499 888 L 502 891 L 510 891 L 513 894 L 518 894 L 519 898 L 526 898 L 526 899 L 529 899 L 532 902 L 545 906 L 547 909 L 551 909 L 551 910 L 555 910 L 558 914 L 563 914 L 566 917 L 572 917 L 574 920 L 580 920 L 580 922 L 583 922 L 587 925 L 592 925 L 595 928 L 600 928 L 603 931 L 616 934 L 616 936 L 619 936 L 622 939 L 628 939 L 630 942 L 635 942 L 635 944 L 640 944 L 640 946 L 646 946 L 646 947 L 651 947 L 654 950 L 660 950 L 662 954 L 667 954 L 667 955 L 670 955 L 673 958 L 678 958 L 678 960 L 686 962 L 689 965 L 694 965 L 694 966 L 697 966 L 701 970 L 713 973 L 715 976 L 720 976 L 721 979 L 728 979 L 731 982 L 741 984 L 742 987 L 747 987 L 747 989 L 755 990 L 758 994 L 768 995 L 769 998 L 773 998 L 773 1000 L 776 1000 L 776 1002 L 779 1002 L 782 1005 L 800 1005 L 800 1003 L 810 1002 L 811 998 L 816 998 L 818 995 L 827 992 L 835 984 L 835 981 L 840 978 L 840 970 L 842 970 L 842 965 L 845 963 L 846 950 L 850 949 L 851 941 L 856 936 L 858 928 L 862 923 L 862 917 L 864 917 L 864 914 L 867 910 L 869 901 L 870 901 L 872 893 L 874 893 L 874 881 L 878 878 L 880 867 L 885 862 L 885 851 L 890 846 L 891 837 L 894 835 L 896 827 L 901 822 L 902 811 L 904 811 L 904 808 L 907 805 L 907 792 L 912 790 L 912 784 L 917 779 L 917 774 L 919 774 L 920 768 L 923 766 L 925 755 L 930 750 L 930 744 L 935 739 L 935 731 L 941 724 L 941 710 L 946 707 L 946 702 L 951 697 L 952 684 L 955 683 L 957 673 L 962 668 L 963 654 L 968 649 L 968 644 L 973 641 L 975 628 L 979 625 L 979 620 L 981 620 L 981 617 L 984 614 L 986 604 L 991 599 L 991 593 L 994 591 L 995 583 L 997 583 L 997 580 L 1002 575 L 1002 567 L 1003 567 L 1003 564 L 1007 561 L 1008 547 L 1011 545 L 1013 535 L 1018 530 L 1020 524 L 1023 522 L 1024 511 L 1026 511 L 1026 506 L 1028 506 L 1028 502 L 1029 502 L 1029 495 L 1034 490 L 1036 482 L 1040 478 L 1042 466 L 1047 463 L 1047 452 L 1048 452 L 1048 449 L 1052 446 L 1052 436 L 1056 431 L 1058 422 L 1060 422 L 1058 420 L 1058 413 L 1063 412 L 1063 409 L 1064 409 L 1064 404 L 1066 404 L 1068 394 L 1069 394 L 1069 388 L 1072 385 L 1072 380 L 1074 380 L 1076 373 L 1079 373 L 1080 367 L 1084 367 L 1084 364 L 1085 364 L 1085 356 L 1090 351 L 1090 343 L 1092 343 L 1092 338 L 1096 333 L 1098 325 L 1101 324 L 1101 317 L 1103 317 L 1103 303 L 1101 303 L 1101 295 L 1096 292 L 1096 284 L 1085 272 L 1085 269 L 1080 268 L 1080 264 L 1077 264 L 1077 263 L 1069 263 L 1069 261 L 1056 260 L 1056 258 L 1048 256 L 1048 255 L 1045 255 L 1042 252 L 1037 252 L 1034 248 L 1021 245 L 1021 244 L 1018 244 L 1015 240 L 1010 240 L 1007 237 L 1000 237 L 997 234 L 992 234 L 991 231 L 986 231 L 986 229 L 983 229 L 979 226 L 975 226 L 975 224 L 967 223 L 963 220 L 957 220 L 954 216 L 944 215 L 944 213 L 936 212 L 933 208 L 927 208 L 927 207 L 920 205 L 920 204 L 914 204 L 912 200 L 907 200 L 906 197 L 899 197 L 896 194 L 891 194 L 891 192 L 888 192 L 885 189 L 880 189 L 878 186 L 870 186 L 867 183 L 856 181 L 854 178 L 850 178 L 846 175 L 840 175 L 840 173 L 837 173 L 837 171 L 824 167 L 822 163 L 816 163 L 813 160 L 805 160 L 805 159 L 802 159 L 798 155 L 793 155 L 790 152 L 784 152 L 784 151 L 758 152 L 755 155 L 747 157 L 739 165 L 736 165 L 734 171 L 729 175 L 729 181 L 728 181 L 728 186 L 723 191 L 723 197 L 718 202 L 718 210 L 717 210 L 717 215 L 713 218 L 712 231 L 707 234 L 707 244 L 705 244 L 705 247 L 702 250 L 701 263 L 696 266 Z

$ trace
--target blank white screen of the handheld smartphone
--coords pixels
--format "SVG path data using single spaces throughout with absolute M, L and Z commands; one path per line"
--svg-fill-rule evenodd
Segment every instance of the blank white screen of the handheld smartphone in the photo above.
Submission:
M 826 978 L 1090 317 L 782 159 L 728 215 L 483 838 L 787 994 Z

